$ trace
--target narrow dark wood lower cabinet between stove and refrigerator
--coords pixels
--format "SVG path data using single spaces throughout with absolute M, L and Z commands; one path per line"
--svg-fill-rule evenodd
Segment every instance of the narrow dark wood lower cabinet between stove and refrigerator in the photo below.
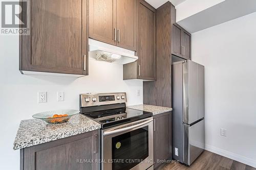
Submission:
M 154 115 L 154 169 L 172 159 L 172 113 Z

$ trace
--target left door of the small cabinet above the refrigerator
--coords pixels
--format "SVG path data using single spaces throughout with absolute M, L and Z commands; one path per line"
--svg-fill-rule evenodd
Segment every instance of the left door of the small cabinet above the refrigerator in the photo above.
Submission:
M 173 51 L 172 53 L 176 56 L 181 56 L 182 55 L 182 44 L 181 44 L 181 38 L 182 38 L 182 30 L 180 27 L 173 25 L 172 27 L 172 46 L 173 46 Z

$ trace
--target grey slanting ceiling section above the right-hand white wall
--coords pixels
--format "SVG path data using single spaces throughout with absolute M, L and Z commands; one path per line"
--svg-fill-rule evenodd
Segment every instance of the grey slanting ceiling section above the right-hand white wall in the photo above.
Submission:
M 226 0 L 177 23 L 189 33 L 195 33 L 253 12 L 256 12 L 255 0 Z

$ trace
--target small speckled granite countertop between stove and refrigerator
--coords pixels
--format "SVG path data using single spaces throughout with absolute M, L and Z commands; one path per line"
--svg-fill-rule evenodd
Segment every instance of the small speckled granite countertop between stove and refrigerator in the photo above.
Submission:
M 137 109 L 137 110 L 152 112 L 153 115 L 161 114 L 161 113 L 165 113 L 165 112 L 173 110 L 172 108 L 161 107 L 161 106 L 153 106 L 153 105 L 135 105 L 135 106 L 126 106 L 126 107 L 131 108 L 131 109 Z

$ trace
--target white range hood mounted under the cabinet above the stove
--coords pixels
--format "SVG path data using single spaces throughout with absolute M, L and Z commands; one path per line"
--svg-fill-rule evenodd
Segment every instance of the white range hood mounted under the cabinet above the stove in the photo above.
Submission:
M 127 64 L 138 60 L 135 52 L 89 38 L 89 58 L 116 64 Z

